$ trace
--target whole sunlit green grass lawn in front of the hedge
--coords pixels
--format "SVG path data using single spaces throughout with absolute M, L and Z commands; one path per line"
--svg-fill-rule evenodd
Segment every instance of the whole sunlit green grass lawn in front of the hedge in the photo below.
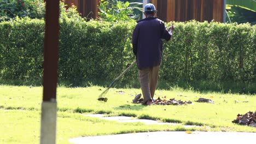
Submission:
M 142 131 L 247 131 L 256 128 L 237 125 L 231 121 L 238 113 L 255 111 L 255 95 L 222 94 L 213 92 L 193 92 L 175 88 L 170 91 L 158 90 L 155 98 L 193 101 L 192 105 L 152 105 L 132 104 L 134 95 L 140 89 L 110 88 L 107 103 L 98 101 L 105 88 L 78 87 L 57 88 L 57 143 L 69 143 L 68 139 L 79 136 L 95 136 Z M 119 94 L 124 91 L 124 94 Z M 0 86 L 0 143 L 39 143 L 40 109 L 42 87 Z M 214 104 L 197 103 L 194 100 L 208 98 Z M 238 103 L 235 103 L 235 100 Z M 248 101 L 248 103 L 243 103 Z M 174 122 L 184 125 L 200 125 L 186 129 L 181 125 L 146 125 L 143 123 L 118 123 L 104 119 L 90 118 L 81 113 L 105 113 L 110 116 L 132 116 L 155 119 L 161 122 Z

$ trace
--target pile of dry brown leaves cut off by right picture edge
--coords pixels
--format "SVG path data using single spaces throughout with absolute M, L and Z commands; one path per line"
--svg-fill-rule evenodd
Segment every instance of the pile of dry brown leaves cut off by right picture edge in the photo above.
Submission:
M 256 111 L 253 113 L 251 111 L 245 113 L 245 115 L 240 115 L 238 113 L 236 119 L 232 123 L 238 123 L 241 125 L 249 125 L 250 127 L 256 127 Z

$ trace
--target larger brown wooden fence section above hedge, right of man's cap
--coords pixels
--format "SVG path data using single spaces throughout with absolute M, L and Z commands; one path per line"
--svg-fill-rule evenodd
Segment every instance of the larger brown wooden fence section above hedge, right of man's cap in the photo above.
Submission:
M 223 22 L 224 0 L 150 0 L 163 21 Z

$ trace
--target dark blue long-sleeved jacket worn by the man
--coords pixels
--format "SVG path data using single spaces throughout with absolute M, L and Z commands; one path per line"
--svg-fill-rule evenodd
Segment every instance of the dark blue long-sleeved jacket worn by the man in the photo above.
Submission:
M 147 17 L 138 21 L 132 33 L 132 48 L 138 69 L 160 65 L 162 39 L 171 39 L 164 22 L 157 17 Z

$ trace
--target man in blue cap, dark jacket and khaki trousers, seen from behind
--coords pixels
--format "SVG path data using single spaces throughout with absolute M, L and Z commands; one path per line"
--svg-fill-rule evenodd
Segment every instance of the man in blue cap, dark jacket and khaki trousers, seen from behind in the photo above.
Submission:
M 132 34 L 133 53 L 139 69 L 139 82 L 145 105 L 152 105 L 158 83 L 159 65 L 162 58 L 162 39 L 170 40 L 174 26 L 166 30 L 164 22 L 154 17 L 157 10 L 151 3 L 145 5 L 145 19 L 137 22 Z

